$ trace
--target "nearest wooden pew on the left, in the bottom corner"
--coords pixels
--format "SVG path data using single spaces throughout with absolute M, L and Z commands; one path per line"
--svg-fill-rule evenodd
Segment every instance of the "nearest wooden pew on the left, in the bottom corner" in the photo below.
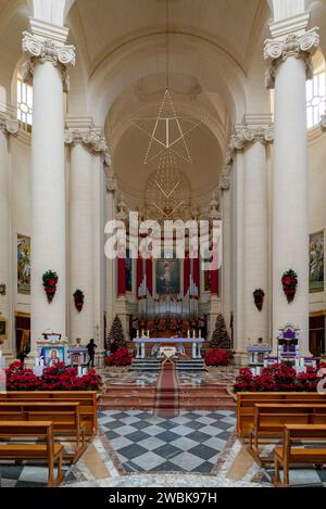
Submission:
M 23 443 L 26 438 L 42 440 L 43 443 Z M 51 421 L 1 421 L 0 460 L 37 460 L 48 466 L 48 486 L 59 486 L 63 481 L 63 446 L 54 444 Z M 54 479 L 54 466 L 58 463 L 58 475 Z

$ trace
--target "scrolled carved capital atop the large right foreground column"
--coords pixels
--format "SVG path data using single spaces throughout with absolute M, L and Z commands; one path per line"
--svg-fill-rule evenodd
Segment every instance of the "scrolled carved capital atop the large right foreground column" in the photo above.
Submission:
M 303 59 L 306 67 L 306 79 L 313 77 L 312 56 L 319 46 L 319 29 L 314 27 L 303 35 L 289 34 L 285 39 L 266 39 L 264 59 L 269 65 L 266 71 L 266 87 L 274 88 L 275 73 L 289 56 Z

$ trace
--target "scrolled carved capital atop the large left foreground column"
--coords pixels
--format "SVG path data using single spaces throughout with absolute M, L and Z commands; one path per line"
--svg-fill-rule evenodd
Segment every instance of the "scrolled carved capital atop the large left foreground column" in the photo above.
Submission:
M 41 64 L 51 62 L 54 67 L 61 71 L 64 92 L 68 91 L 70 78 L 67 67 L 76 63 L 74 46 L 64 46 L 58 42 L 58 40 L 50 38 L 41 39 L 36 35 L 24 31 L 22 47 L 23 52 L 30 55 L 29 60 L 22 65 L 22 78 L 24 81 L 32 84 L 37 62 Z

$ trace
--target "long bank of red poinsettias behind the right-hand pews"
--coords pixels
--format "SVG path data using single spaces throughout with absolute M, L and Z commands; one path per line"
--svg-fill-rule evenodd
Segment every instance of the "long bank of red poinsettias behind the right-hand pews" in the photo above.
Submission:
M 235 392 L 316 392 L 319 381 L 318 369 L 309 367 L 305 373 L 297 374 L 293 368 L 276 364 L 263 368 L 260 376 L 252 374 L 249 368 L 240 369 L 234 390 Z

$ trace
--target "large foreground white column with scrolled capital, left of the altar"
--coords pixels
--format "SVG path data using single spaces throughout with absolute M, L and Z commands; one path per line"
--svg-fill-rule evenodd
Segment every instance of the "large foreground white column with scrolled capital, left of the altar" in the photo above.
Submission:
M 64 46 L 68 30 L 30 20 L 23 51 L 30 59 L 23 78 L 34 90 L 32 132 L 32 355 L 45 330 L 66 336 L 66 245 L 63 80 L 75 63 L 74 48 Z M 48 303 L 42 275 L 59 276 L 58 291 Z

